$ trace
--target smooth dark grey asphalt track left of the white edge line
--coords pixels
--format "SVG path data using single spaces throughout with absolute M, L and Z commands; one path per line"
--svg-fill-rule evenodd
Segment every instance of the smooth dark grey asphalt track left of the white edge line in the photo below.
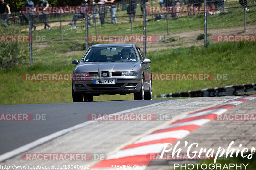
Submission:
M 116 113 L 162 101 L 166 100 L 0 105 L 2 114 L 46 115 L 46 121 L 1 121 L 0 155 L 59 130 L 86 122 L 88 114 Z

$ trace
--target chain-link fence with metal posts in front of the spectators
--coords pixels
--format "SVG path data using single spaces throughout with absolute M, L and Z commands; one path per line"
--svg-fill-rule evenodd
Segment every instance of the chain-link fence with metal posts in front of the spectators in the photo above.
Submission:
M 19 56 L 18 61 L 67 63 L 98 43 L 133 43 L 146 55 L 146 51 L 163 48 L 206 46 L 225 41 L 226 35 L 234 42 L 228 35 L 256 33 L 253 0 L 130 0 L 85 8 L 84 12 L 81 7 L 50 7 L 41 12 L 12 13 L 7 16 L 7 26 L 1 16 L 0 64 L 5 65 L 11 52 Z M 30 39 L 10 42 L 6 35 Z

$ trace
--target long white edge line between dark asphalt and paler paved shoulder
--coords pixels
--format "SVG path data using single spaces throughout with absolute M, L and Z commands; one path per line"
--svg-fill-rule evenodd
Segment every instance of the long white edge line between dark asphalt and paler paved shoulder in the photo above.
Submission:
M 124 110 L 124 111 L 121 111 L 121 112 L 117 112 L 117 113 L 114 113 L 114 114 L 123 114 L 123 113 L 128 113 L 128 112 L 132 112 L 132 111 L 135 111 L 135 110 L 140 110 L 140 109 L 143 109 L 143 108 L 147 108 L 147 107 L 154 107 L 154 106 L 157 106 L 157 105 L 160 105 L 160 104 L 164 104 L 164 103 L 167 103 L 167 102 L 171 102 L 170 100 L 168 101 L 163 101 L 163 102 L 158 102 L 158 103 L 154 103 L 154 104 L 151 104 L 151 105 L 147 105 L 147 106 L 142 106 L 142 107 L 136 107 L 136 108 L 132 108 L 132 109 L 128 109 L 128 110 Z M 52 133 L 48 136 L 45 136 L 45 137 L 42 137 L 40 139 L 37 139 L 31 143 L 28 143 L 28 144 L 25 144 L 23 146 L 20 146 L 19 148 L 16 148 L 12 151 L 9 151 L 9 152 L 6 152 L 2 155 L 0 155 L 0 162 L 6 160 L 6 159 L 9 159 L 9 158 L 12 158 L 14 157 L 15 155 L 18 155 L 22 152 L 25 152 L 25 151 L 28 151 L 29 149 L 32 149 L 38 145 L 41 145 L 41 144 L 44 144 L 45 142 L 48 142 L 56 137 L 59 137 L 61 135 L 64 135 L 70 131 L 73 131 L 73 130 L 76 130 L 76 129 L 79 129 L 79 128 L 83 128 L 84 126 L 88 126 L 92 123 L 95 123 L 95 122 L 98 122 L 98 121 L 87 121 L 87 122 L 84 122 L 84 123 L 80 123 L 80 124 L 77 124 L 75 126 L 72 126 L 70 128 L 67 128 L 67 129 L 63 129 L 63 130 L 60 130 L 58 132 L 55 132 L 55 133 Z

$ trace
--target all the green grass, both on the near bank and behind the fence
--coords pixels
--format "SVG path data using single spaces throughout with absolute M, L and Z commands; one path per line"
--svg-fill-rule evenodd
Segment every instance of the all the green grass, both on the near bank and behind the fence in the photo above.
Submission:
M 153 6 L 158 5 L 153 4 Z M 241 6 L 239 2 L 226 2 L 226 7 Z M 256 7 L 250 7 L 247 13 L 247 26 L 255 25 Z M 137 13 L 141 15 L 140 6 Z M 98 26 L 98 35 L 130 35 L 130 23 L 126 11 L 116 12 L 116 25 Z M 73 15 L 63 16 L 62 19 L 71 20 Z M 148 16 L 150 19 L 151 16 Z M 49 21 L 59 20 L 49 18 Z M 142 17 L 137 17 L 142 21 Z M 227 12 L 208 15 L 208 29 L 222 29 L 244 26 L 244 12 L 242 8 L 228 9 Z M 110 19 L 108 19 L 110 21 Z M 143 34 L 141 21 L 133 23 L 135 35 Z M 122 23 L 121 23 L 122 22 Z M 36 24 L 37 26 L 39 24 Z M 52 27 L 51 30 L 33 31 L 33 37 L 45 36 L 44 42 L 33 43 L 33 65 L 15 66 L 12 68 L 0 68 L 0 104 L 23 103 L 55 103 L 71 102 L 71 81 L 23 81 L 22 74 L 26 73 L 72 73 L 75 65 L 74 59 L 80 60 L 85 52 L 85 28 L 84 21 L 77 24 L 78 28 L 63 25 L 63 42 L 60 41 L 60 27 Z M 187 16 L 181 14 L 180 18 L 169 18 L 170 33 L 181 33 L 192 30 L 203 30 L 204 15 Z M 19 26 L 19 29 L 28 28 L 28 25 Z M 157 29 L 156 29 L 157 28 Z M 147 22 L 147 35 L 166 35 L 167 22 Z M 23 31 L 28 34 L 28 31 Z M 22 33 L 22 34 L 23 34 Z M 242 33 L 242 32 L 239 32 Z M 239 34 L 238 33 L 238 34 Z M 89 28 L 89 35 L 95 35 L 95 27 Z M 196 37 L 195 37 L 196 38 Z M 158 45 L 161 50 L 149 51 L 147 58 L 152 60 L 153 73 L 212 73 L 227 74 L 227 80 L 212 81 L 153 81 L 153 95 L 198 90 L 203 88 L 220 87 L 226 85 L 238 85 L 253 83 L 253 73 L 256 70 L 255 43 L 216 43 L 208 48 L 181 47 L 176 49 L 164 49 L 170 43 L 173 46 L 183 46 L 185 39 L 171 35 L 173 42 L 147 43 L 147 48 Z M 175 41 L 174 41 L 175 40 Z M 184 42 L 183 42 L 184 41 Z M 92 45 L 92 43 L 90 43 Z M 142 46 L 140 46 L 142 49 Z M 158 49 L 154 48 L 154 49 Z M 19 55 L 19 54 L 17 54 Z M 25 55 L 27 58 L 28 56 Z M 175 62 L 177 61 L 177 63 Z M 133 100 L 132 94 L 100 95 L 94 100 Z

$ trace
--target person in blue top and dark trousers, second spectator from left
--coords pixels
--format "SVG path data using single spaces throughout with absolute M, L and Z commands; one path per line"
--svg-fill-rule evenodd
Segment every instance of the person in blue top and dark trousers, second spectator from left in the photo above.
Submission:
M 28 7 L 30 7 L 30 8 L 28 8 Z M 24 11 L 23 15 L 24 15 L 25 20 L 27 21 L 27 23 L 28 23 L 28 19 L 31 21 L 31 28 L 30 29 L 32 29 L 32 27 L 33 27 L 34 31 L 35 31 L 36 26 L 34 26 L 33 23 L 32 23 L 33 19 L 34 19 L 34 15 L 35 15 L 35 13 L 33 13 L 33 9 L 34 9 L 34 2 L 31 1 L 31 0 L 27 0 L 25 2 L 25 4 L 23 5 L 23 7 L 21 8 L 20 13 L 22 11 Z

